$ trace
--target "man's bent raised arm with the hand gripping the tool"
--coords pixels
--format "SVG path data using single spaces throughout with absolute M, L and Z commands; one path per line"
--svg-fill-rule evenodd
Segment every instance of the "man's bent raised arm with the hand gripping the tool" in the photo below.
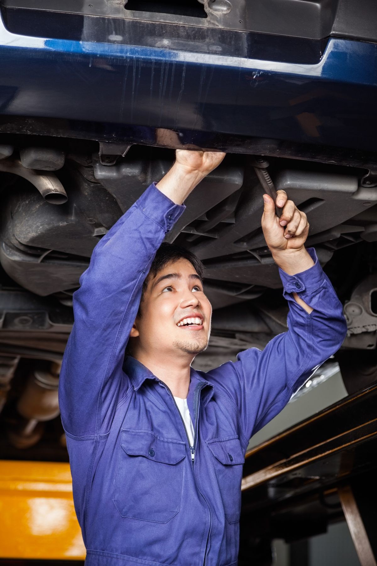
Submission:
M 240 413 L 248 442 L 277 415 L 310 375 L 334 354 L 346 335 L 343 308 L 313 248 L 305 249 L 309 224 L 284 191 L 276 204 L 263 195 L 262 228 L 266 243 L 279 265 L 284 297 L 289 304 L 288 332 L 275 336 L 261 351 L 250 348 L 209 372 Z

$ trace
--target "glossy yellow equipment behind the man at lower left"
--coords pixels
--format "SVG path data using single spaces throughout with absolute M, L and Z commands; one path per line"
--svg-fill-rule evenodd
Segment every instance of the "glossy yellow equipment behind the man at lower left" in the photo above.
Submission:
M 84 560 L 70 465 L 0 461 L 0 558 Z

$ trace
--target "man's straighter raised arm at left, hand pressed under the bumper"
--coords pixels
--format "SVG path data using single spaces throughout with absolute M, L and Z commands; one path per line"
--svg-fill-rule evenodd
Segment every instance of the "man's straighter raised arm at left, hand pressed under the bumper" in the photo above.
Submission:
M 60 372 L 59 405 L 69 434 L 109 431 L 116 404 L 128 388 L 122 373 L 124 349 L 150 264 L 183 213 L 184 199 L 223 157 L 219 152 L 177 151 L 165 177 L 150 185 L 94 248 L 73 294 L 75 323 Z

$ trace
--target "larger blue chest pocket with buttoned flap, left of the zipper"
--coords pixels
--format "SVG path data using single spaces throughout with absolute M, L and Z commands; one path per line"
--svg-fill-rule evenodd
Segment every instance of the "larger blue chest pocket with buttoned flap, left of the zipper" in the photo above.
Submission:
M 166 523 L 180 507 L 185 444 L 122 429 L 114 504 L 122 517 Z

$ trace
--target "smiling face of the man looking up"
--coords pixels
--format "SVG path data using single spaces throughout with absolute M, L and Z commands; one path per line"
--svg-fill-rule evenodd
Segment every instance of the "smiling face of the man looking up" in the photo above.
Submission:
M 131 336 L 144 354 L 196 355 L 207 348 L 211 314 L 200 277 L 188 260 L 180 259 L 148 282 Z

